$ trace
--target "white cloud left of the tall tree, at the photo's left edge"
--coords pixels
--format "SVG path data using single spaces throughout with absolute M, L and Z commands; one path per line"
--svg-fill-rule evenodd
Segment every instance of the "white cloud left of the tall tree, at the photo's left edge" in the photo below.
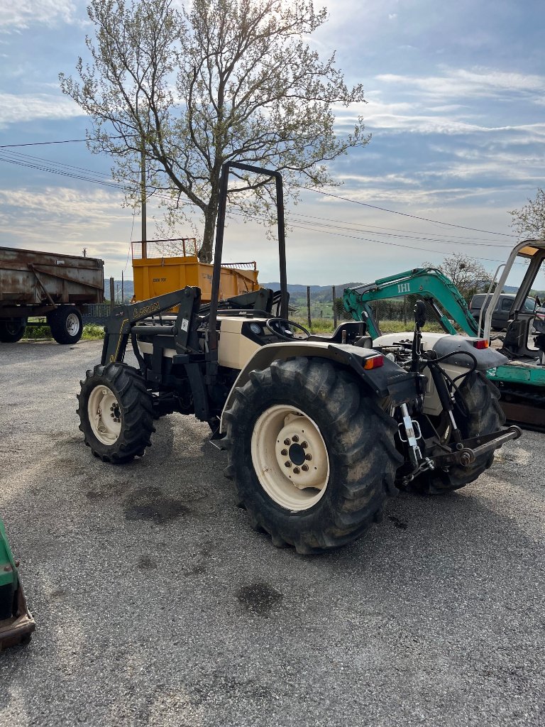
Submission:
M 64 96 L 0 93 L 0 127 L 33 119 L 73 119 L 75 116 L 85 114 Z

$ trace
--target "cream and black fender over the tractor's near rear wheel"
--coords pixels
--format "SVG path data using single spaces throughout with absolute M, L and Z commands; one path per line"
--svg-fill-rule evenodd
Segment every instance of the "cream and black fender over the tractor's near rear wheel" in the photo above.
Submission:
M 352 344 L 331 343 L 325 341 L 301 341 L 286 343 L 270 343 L 259 348 L 246 366 L 238 374 L 233 387 L 227 396 L 222 411 L 220 431 L 225 431 L 223 417 L 225 411 L 233 406 L 235 389 L 248 382 L 251 371 L 267 369 L 273 361 L 286 361 L 288 358 L 305 356 L 307 358 L 326 358 L 347 369 L 355 371 L 367 385 L 371 395 L 387 398 L 391 403 L 405 403 L 415 398 L 415 375 L 409 374 L 397 366 L 389 358 L 383 358 L 382 366 L 375 369 L 364 369 L 363 365 L 369 358 L 381 356 L 373 348 L 363 348 Z M 416 375 L 418 377 L 418 374 Z

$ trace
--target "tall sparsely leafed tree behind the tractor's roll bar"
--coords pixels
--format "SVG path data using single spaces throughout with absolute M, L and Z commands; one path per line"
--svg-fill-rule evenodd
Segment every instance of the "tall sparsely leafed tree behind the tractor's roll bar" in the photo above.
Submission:
M 167 220 L 200 210 L 204 262 L 225 161 L 279 169 L 296 198 L 290 182 L 334 184 L 327 162 L 368 143 L 360 117 L 334 132 L 334 107 L 362 102 L 363 89 L 304 40 L 327 18 L 312 0 L 193 0 L 181 12 L 174 0 L 92 0 L 88 12 L 92 63 L 78 60 L 78 80 L 61 73 L 62 92 L 91 117 L 89 145 L 113 156 L 132 204 L 145 155 L 145 186 L 166 198 Z M 273 217 L 268 189 L 241 174 L 231 204 Z

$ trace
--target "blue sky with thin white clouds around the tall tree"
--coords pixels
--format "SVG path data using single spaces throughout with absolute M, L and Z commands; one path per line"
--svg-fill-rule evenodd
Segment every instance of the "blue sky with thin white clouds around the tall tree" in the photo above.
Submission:
M 304 193 L 288 209 L 288 282 L 368 282 L 455 252 L 493 272 L 517 241 L 509 210 L 545 184 L 542 1 L 324 4 L 328 22 L 308 42 L 323 56 L 336 51 L 347 83 L 363 84 L 366 96 L 336 109 L 336 129 L 361 115 L 371 142 L 331 164 L 336 196 Z M 58 74 L 76 75 L 92 33 L 79 0 L 4 4 L 0 246 L 86 249 L 105 260 L 106 276 L 132 278 L 140 212 L 108 186 L 111 160 L 84 143 L 36 145 L 84 139 L 89 119 L 62 95 Z M 148 238 L 156 235 L 148 218 Z M 261 281 L 278 280 L 275 246 L 258 222 L 230 223 L 225 257 L 255 259 Z

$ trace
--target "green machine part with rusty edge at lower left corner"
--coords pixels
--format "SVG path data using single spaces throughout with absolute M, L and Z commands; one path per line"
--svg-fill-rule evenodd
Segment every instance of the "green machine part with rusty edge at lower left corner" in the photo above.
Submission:
M 31 638 L 36 624 L 28 611 L 17 563 L 0 520 L 0 651 Z

